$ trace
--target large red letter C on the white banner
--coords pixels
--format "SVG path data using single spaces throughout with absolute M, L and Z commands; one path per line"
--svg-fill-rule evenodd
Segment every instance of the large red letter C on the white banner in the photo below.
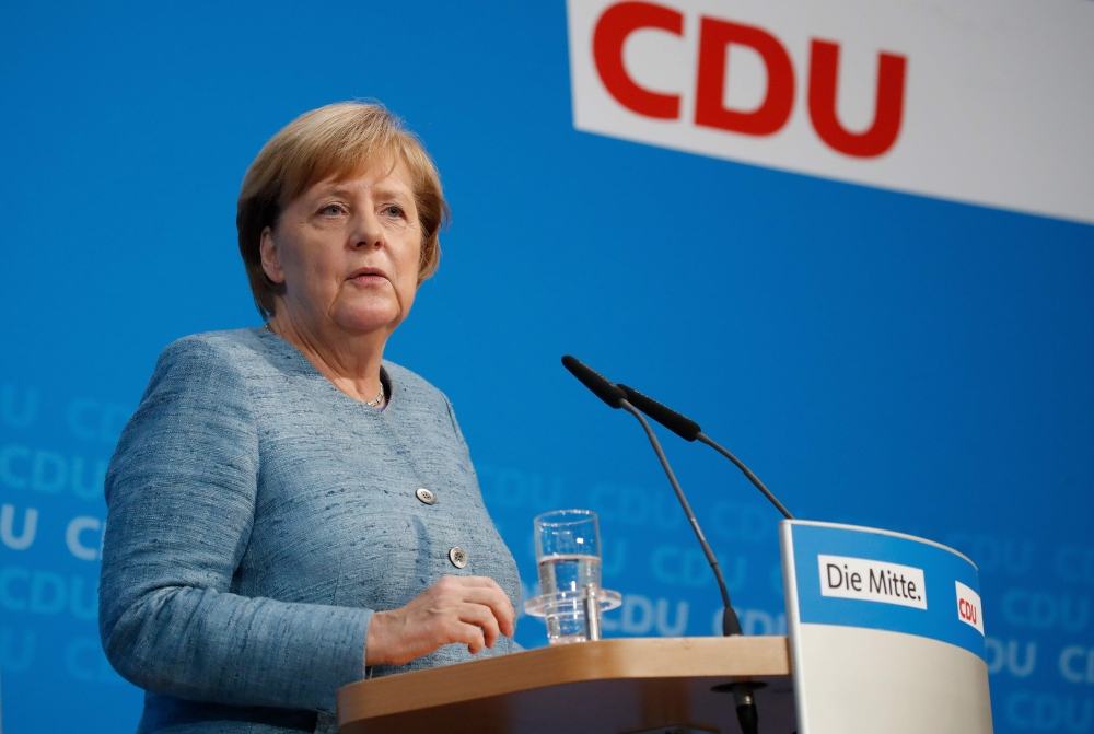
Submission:
M 627 109 L 660 119 L 676 119 L 680 98 L 659 94 L 635 83 L 622 62 L 627 36 L 639 28 L 661 28 L 677 36 L 684 34 L 684 15 L 649 2 L 620 2 L 604 11 L 593 32 L 593 59 L 604 86 Z

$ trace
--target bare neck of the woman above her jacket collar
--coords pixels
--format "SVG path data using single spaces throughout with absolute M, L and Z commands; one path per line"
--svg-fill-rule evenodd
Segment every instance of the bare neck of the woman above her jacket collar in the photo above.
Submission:
M 352 334 L 337 326 L 315 328 L 287 311 L 270 316 L 271 330 L 295 347 L 335 387 L 361 403 L 382 393 L 380 368 L 388 334 Z

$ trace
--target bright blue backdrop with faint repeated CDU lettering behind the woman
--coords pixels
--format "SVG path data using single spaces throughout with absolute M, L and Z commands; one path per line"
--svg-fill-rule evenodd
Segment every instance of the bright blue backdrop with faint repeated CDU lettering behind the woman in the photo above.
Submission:
M 532 517 L 586 506 L 627 598 L 609 634 L 713 633 L 639 427 L 572 352 L 795 514 L 968 554 L 997 731 L 1094 730 L 1094 228 L 575 132 L 561 2 L 221 5 L 0 5 L 5 731 L 136 725 L 95 619 L 105 464 L 164 346 L 259 323 L 234 226 L 252 158 L 356 97 L 444 178 L 441 269 L 387 353 L 452 398 L 527 592 Z M 779 515 L 664 440 L 747 631 L 783 632 Z

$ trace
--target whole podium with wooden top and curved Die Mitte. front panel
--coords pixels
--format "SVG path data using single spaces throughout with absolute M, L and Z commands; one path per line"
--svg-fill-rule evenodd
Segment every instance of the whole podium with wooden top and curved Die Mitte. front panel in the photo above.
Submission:
M 940 544 L 783 521 L 784 637 L 615 639 L 362 680 L 338 691 L 341 734 L 741 731 L 991 734 L 976 566 Z

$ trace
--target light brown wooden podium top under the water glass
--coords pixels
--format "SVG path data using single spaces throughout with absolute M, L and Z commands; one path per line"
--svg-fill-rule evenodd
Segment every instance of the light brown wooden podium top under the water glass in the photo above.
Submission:
M 784 637 L 631 638 L 529 650 L 338 691 L 341 734 L 605 734 L 674 724 L 738 732 L 732 680 L 756 692 L 760 732 L 794 729 Z

